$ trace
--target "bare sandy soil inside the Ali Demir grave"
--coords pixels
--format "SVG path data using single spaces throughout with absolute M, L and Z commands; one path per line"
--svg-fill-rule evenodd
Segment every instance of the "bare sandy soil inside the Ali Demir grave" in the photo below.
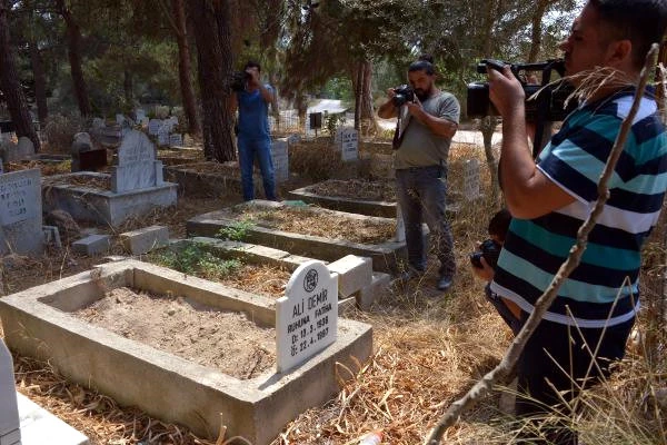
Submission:
M 276 362 L 273 328 L 188 298 L 120 287 L 74 316 L 241 379 L 256 377 Z

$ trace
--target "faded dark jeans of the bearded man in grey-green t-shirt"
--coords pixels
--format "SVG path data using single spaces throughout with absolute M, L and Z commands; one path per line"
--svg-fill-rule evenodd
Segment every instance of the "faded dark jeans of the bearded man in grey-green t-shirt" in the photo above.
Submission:
M 445 218 L 446 169 L 440 166 L 396 170 L 396 196 L 406 225 L 408 261 L 417 270 L 426 269 L 421 224 L 430 230 L 431 245 L 440 260 L 440 276 L 454 278 L 454 238 Z

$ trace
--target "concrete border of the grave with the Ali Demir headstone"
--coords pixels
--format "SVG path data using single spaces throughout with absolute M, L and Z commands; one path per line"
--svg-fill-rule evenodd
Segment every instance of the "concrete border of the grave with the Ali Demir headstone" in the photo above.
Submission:
M 275 326 L 275 301 L 150 264 L 123 260 L 0 298 L 8 346 L 48 359 L 60 373 L 121 405 L 182 424 L 211 439 L 221 422 L 231 436 L 268 445 L 281 428 L 339 390 L 336 363 L 355 368 L 372 349 L 370 325 L 340 319 L 336 343 L 283 374 L 271 368 L 240 380 L 72 317 L 108 289 L 131 286 L 240 310 Z M 295 395 L 298 395 L 295 396 Z M 222 418 L 222 421 L 221 421 Z

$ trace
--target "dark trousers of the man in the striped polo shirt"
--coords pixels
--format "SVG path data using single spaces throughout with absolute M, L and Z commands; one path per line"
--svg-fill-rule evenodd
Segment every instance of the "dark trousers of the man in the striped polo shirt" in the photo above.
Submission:
M 522 313 L 522 320 L 527 314 Z M 625 355 L 626 340 L 635 320 L 603 328 L 578 328 L 558 323 L 541 320 L 518 363 L 518 390 L 516 413 L 518 416 L 544 418 L 548 406 L 563 406 L 563 400 L 571 402 L 579 394 L 579 387 L 587 388 L 609 375 L 611 362 L 620 360 Z M 601 340 L 600 340 L 601 339 Z M 585 347 L 584 345 L 588 345 Z M 596 364 L 593 352 L 599 349 Z M 559 365 L 557 366 L 556 363 Z M 590 370 L 588 370 L 590 367 Z M 560 369 L 563 368 L 563 369 Z M 585 382 L 584 378 L 588 377 Z M 560 397 L 555 393 L 566 392 Z M 524 396 L 525 395 L 525 396 Z M 561 398 L 563 397 L 563 398 Z M 541 405 L 541 404 L 544 405 Z M 566 408 L 564 418 L 571 417 Z M 536 421 L 537 422 L 537 421 Z M 577 434 L 567 426 L 567 419 L 550 425 L 546 441 L 530 441 L 532 444 L 577 444 Z

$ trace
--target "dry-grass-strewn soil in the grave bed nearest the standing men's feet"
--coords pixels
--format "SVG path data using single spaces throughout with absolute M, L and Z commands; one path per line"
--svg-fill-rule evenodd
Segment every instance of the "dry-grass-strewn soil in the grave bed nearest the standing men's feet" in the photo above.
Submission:
M 260 227 L 361 244 L 384 243 L 396 233 L 394 221 L 379 221 L 370 217 L 346 218 L 326 209 L 258 209 L 242 206 L 237 216 L 240 220 L 249 220 Z

